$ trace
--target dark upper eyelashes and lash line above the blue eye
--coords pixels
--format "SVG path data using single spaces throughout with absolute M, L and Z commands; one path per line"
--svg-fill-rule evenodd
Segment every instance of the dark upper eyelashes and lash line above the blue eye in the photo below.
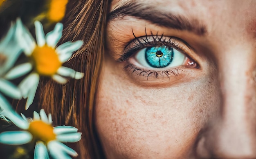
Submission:
M 180 50 L 180 46 L 178 44 L 175 43 L 175 39 L 173 39 L 174 37 L 164 37 L 164 34 L 162 34 L 161 36 L 158 35 L 158 32 L 156 33 L 156 35 L 153 35 L 152 31 L 150 31 L 151 35 L 147 35 L 146 33 L 146 28 L 145 28 L 145 36 L 141 36 L 141 37 L 136 37 L 133 30 L 132 30 L 132 34 L 135 37 L 135 39 L 133 39 L 132 41 L 130 41 L 125 47 L 124 47 L 124 51 L 123 53 L 120 55 L 120 58 L 117 59 L 117 61 L 121 62 L 121 61 L 125 61 L 126 59 L 128 59 L 134 52 L 136 52 L 139 49 L 142 48 L 146 48 L 152 45 L 156 45 L 157 43 L 165 45 L 168 44 L 170 45 L 172 48 L 175 48 L 177 50 Z M 148 37 L 151 37 L 153 39 L 153 41 L 149 41 Z M 176 38 L 176 37 L 175 37 Z M 142 42 L 144 41 L 144 43 Z M 128 48 L 128 46 L 130 44 L 136 44 L 136 46 L 132 47 L 132 48 Z

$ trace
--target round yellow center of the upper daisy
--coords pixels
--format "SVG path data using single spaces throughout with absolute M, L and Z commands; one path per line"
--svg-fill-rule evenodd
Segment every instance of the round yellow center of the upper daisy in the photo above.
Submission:
M 51 76 L 55 74 L 62 65 L 55 49 L 47 45 L 42 47 L 36 46 L 31 57 L 36 64 L 36 71 L 41 75 Z

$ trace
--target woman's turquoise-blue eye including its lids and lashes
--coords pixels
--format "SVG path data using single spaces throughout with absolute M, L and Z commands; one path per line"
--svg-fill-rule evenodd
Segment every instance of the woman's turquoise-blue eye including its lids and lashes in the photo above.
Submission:
M 134 34 L 133 34 L 134 35 Z M 124 48 L 119 61 L 125 61 L 125 70 L 136 81 L 173 81 L 186 75 L 189 69 L 200 69 L 193 56 L 193 49 L 177 37 L 145 35 L 136 37 Z

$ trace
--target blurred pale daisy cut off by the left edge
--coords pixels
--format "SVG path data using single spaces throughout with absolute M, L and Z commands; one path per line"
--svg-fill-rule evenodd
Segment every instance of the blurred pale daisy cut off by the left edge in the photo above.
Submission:
M 14 99 L 21 99 L 22 94 L 16 85 L 13 85 L 9 80 L 18 78 L 27 73 L 27 69 L 22 66 L 18 72 L 11 73 L 11 68 L 17 61 L 22 48 L 18 45 L 17 41 L 17 24 L 11 24 L 6 36 L 0 41 L 0 107 L 2 109 L 11 109 L 11 106 L 5 96 Z M 26 67 L 31 69 L 29 67 Z

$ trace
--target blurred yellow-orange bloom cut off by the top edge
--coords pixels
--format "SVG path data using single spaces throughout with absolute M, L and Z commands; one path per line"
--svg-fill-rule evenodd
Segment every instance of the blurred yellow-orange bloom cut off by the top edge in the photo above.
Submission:
M 51 0 L 47 17 L 52 22 L 59 22 L 63 19 L 68 0 Z

